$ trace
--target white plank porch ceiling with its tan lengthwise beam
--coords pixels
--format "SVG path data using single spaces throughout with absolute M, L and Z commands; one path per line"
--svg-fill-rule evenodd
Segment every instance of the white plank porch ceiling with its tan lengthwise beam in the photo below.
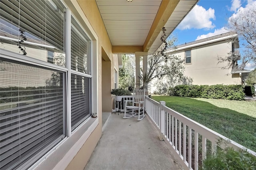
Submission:
M 154 53 L 162 44 L 161 30 L 166 34 L 178 26 L 198 0 L 96 0 L 102 20 L 113 46 L 143 46 L 143 51 Z M 168 2 L 167 2 L 168 1 Z M 177 4 L 178 2 L 178 4 Z M 162 6 L 161 7 L 161 3 Z M 166 6 L 166 4 L 174 4 Z M 173 8 L 168 10 L 165 8 Z M 159 11 L 158 10 L 164 10 Z M 160 20 L 171 11 L 166 21 Z M 159 14 L 157 14 L 159 13 Z M 153 26 L 152 26 L 153 24 Z M 115 52 L 115 51 L 113 51 Z M 125 51 L 124 51 L 125 52 Z M 129 53 L 129 51 L 127 51 Z

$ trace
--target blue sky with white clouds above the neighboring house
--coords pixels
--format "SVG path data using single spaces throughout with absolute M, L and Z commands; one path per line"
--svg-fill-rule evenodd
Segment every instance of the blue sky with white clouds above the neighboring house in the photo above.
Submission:
M 240 9 L 250 10 L 251 4 L 256 6 L 256 0 L 200 0 L 172 33 L 178 38 L 176 45 L 228 32 L 228 19 L 239 16 Z M 245 69 L 255 67 L 249 63 Z

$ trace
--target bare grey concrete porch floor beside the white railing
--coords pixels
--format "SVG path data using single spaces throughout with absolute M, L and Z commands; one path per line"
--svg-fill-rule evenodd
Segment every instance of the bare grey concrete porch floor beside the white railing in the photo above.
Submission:
M 94 152 L 84 170 L 179 170 L 168 145 L 146 116 L 123 119 L 124 113 L 108 117 Z M 177 160 L 175 160 L 177 162 Z

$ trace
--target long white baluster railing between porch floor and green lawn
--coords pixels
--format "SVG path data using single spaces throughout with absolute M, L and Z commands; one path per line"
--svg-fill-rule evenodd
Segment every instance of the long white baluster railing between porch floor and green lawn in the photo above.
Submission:
M 216 149 L 220 139 L 236 150 L 245 149 L 244 146 L 166 107 L 164 101 L 158 103 L 146 97 L 145 110 L 158 127 L 160 138 L 170 144 L 184 169 L 198 170 L 206 155 Z M 249 149 L 247 151 L 256 156 L 256 152 Z

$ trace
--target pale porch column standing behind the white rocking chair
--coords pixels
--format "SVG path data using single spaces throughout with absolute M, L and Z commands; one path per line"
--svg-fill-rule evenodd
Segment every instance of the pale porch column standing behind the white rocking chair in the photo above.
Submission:
M 147 60 L 148 53 L 147 52 L 142 52 L 142 51 L 135 52 L 136 89 L 140 89 L 140 79 L 139 79 L 139 76 L 140 76 L 140 56 L 143 57 L 143 71 L 144 71 L 144 68 L 148 67 L 147 62 L 144 63 L 144 58 L 146 58 L 146 60 Z M 146 56 L 146 57 L 144 57 L 144 56 Z

